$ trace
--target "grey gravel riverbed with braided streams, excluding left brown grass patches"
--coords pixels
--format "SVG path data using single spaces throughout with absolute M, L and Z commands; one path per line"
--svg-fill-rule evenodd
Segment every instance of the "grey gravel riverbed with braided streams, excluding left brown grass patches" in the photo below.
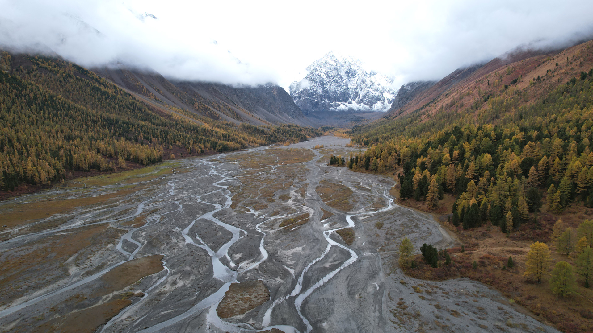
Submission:
M 358 152 L 344 147 L 348 141 L 325 136 L 287 147 L 182 159 L 171 174 L 146 181 L 117 204 L 80 207 L 62 225 L 42 232 L 12 238 L 3 232 L 3 255 L 89 226 L 110 226 L 120 234 L 95 246 L 85 260 L 66 261 L 68 274 L 2 299 L 1 329 L 34 331 L 35 325 L 23 323 L 41 313 L 36 325 L 68 315 L 84 304 L 72 305 L 72 297 L 93 294 L 113 268 L 160 254 L 164 268 L 124 290 L 139 296 L 98 331 L 557 332 L 484 284 L 404 276 L 396 265 L 401 238 L 408 236 L 416 249 L 423 243 L 446 248 L 455 239 L 428 214 L 394 203 L 393 179 L 327 166 L 330 153 Z M 325 148 L 313 149 L 322 144 Z M 324 203 L 315 190 L 320 181 L 350 188 L 352 210 Z M 50 194 L 76 197 L 78 190 L 57 188 Z M 321 220 L 321 209 L 332 216 Z M 302 214 L 308 220 L 279 227 Z M 129 223 L 138 217 L 144 225 Z M 378 229 L 376 222 L 384 226 Z M 337 235 L 343 228 L 355 232 L 352 245 Z M 219 318 L 216 308 L 231 283 L 254 280 L 263 281 L 270 299 L 247 313 Z

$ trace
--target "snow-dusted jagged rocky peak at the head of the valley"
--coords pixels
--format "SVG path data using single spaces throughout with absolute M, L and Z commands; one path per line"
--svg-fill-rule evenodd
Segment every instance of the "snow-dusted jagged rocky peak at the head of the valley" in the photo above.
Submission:
M 301 81 L 292 82 L 292 100 L 304 114 L 315 111 L 387 111 L 397 90 L 392 79 L 366 72 L 360 60 L 329 52 L 307 67 Z

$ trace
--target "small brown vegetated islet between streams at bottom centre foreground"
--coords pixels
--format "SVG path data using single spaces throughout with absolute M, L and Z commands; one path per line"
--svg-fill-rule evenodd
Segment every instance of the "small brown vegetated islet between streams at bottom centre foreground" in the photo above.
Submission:
M 270 290 L 262 280 L 231 283 L 224 298 L 218 303 L 216 313 L 220 318 L 243 315 L 266 303 L 270 299 Z

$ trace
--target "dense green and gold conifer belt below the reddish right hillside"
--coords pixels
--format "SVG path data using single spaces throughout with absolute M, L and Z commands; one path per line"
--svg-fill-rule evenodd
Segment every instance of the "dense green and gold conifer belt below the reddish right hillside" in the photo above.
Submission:
M 400 197 L 427 201 L 431 208 L 444 193 L 455 194 L 451 222 L 466 229 L 486 221 L 502 232 L 517 229 L 529 213 L 539 212 L 544 192 L 554 213 L 573 201 L 593 207 L 591 74 L 560 84 L 530 105 L 490 98 L 497 113 L 517 107 L 521 121 L 516 123 L 471 121 L 425 136 L 388 135 L 391 139 L 375 143 L 355 136 L 371 146 L 351 155 L 347 167 L 363 172 L 401 167 Z

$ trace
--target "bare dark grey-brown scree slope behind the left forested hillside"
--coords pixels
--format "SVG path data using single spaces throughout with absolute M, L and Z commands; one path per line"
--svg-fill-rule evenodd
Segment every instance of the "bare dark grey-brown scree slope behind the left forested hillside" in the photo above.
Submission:
M 126 68 L 100 68 L 94 72 L 156 107 L 170 105 L 237 124 L 317 126 L 302 114 L 284 89 L 272 84 L 231 87 L 209 82 L 170 81 L 156 72 Z

